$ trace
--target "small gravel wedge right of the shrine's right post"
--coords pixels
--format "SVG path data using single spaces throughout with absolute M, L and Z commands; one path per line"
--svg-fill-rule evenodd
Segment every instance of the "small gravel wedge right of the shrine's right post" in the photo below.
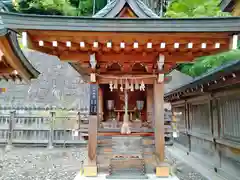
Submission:
M 170 153 L 166 152 L 167 159 L 173 162 L 174 174 L 180 180 L 208 180 L 202 174 L 191 168 L 188 164 L 183 163 L 173 157 Z

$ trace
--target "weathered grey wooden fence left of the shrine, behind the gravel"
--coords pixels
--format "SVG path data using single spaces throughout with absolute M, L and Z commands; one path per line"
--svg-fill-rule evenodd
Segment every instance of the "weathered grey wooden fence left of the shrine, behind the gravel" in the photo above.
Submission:
M 0 115 L 0 144 L 4 145 L 69 145 L 83 144 L 88 132 L 88 114 L 56 117 L 21 115 L 16 111 Z

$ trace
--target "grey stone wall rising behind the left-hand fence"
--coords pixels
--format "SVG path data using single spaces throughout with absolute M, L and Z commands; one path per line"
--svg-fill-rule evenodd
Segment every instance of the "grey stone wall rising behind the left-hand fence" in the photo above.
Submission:
M 0 94 L 1 106 L 89 107 L 89 85 L 68 63 L 40 52 L 24 50 L 24 53 L 41 74 L 30 84 L 1 81 L 0 87 L 7 88 L 6 93 Z

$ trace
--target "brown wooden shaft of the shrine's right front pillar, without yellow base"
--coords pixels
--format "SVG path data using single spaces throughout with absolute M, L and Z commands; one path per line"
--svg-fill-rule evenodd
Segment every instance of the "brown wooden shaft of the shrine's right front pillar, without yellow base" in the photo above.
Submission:
M 159 156 L 161 163 L 165 159 L 165 139 L 164 139 L 164 83 L 158 84 L 154 81 L 154 135 L 155 135 L 155 151 Z

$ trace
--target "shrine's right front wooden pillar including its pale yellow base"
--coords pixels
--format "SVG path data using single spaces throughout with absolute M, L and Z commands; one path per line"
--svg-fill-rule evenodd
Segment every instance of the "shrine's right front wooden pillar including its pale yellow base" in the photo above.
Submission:
M 155 153 L 158 165 L 156 175 L 158 177 L 169 176 L 169 167 L 164 163 L 165 160 L 165 138 L 164 138 L 164 83 L 154 82 L 154 123 L 155 123 Z

